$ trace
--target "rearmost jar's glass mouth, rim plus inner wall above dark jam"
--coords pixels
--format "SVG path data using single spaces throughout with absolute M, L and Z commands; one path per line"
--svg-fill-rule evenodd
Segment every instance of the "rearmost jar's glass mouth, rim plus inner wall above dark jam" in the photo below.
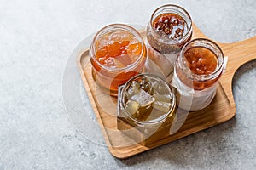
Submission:
M 189 37 L 192 32 L 192 19 L 188 11 L 186 11 L 186 9 L 174 4 L 166 4 L 166 5 L 160 6 L 159 8 L 156 8 L 150 18 L 150 22 L 149 22 L 150 28 L 153 30 L 154 37 L 162 38 L 157 32 L 154 31 L 153 22 L 154 22 L 154 19 L 160 14 L 170 14 L 170 13 L 177 14 L 180 17 L 182 17 L 188 26 L 188 31 L 185 32 L 183 37 L 179 37 L 177 39 L 170 39 L 165 37 L 166 41 L 163 41 L 161 39 L 159 40 L 160 42 L 166 42 L 167 44 L 178 44 L 183 42 L 183 39 Z

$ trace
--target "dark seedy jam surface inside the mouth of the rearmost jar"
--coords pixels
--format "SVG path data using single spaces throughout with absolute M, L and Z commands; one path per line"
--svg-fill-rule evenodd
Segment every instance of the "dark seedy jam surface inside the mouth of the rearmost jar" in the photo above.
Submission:
M 159 34 L 163 32 L 172 39 L 177 39 L 183 37 L 187 31 L 185 20 L 177 15 L 172 13 L 160 14 L 153 21 L 154 30 Z

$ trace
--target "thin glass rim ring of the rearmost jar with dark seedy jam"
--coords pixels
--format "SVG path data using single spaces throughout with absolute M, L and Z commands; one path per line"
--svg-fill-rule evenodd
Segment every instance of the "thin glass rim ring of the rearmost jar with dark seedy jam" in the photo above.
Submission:
M 183 42 L 183 39 L 184 39 L 185 37 L 189 37 L 189 35 L 190 35 L 191 32 L 192 32 L 192 18 L 191 18 L 191 16 L 190 16 L 189 12 L 188 12 L 185 8 L 183 8 L 183 7 L 181 7 L 181 6 L 178 6 L 178 5 L 175 5 L 175 4 L 166 4 L 166 5 L 162 5 L 162 6 L 160 6 L 159 8 L 156 8 L 156 9 L 154 10 L 153 14 L 151 14 L 151 18 L 150 18 L 149 25 L 150 25 L 151 29 L 153 30 L 154 36 L 160 37 L 160 35 L 157 34 L 157 33 L 154 31 L 153 26 L 152 26 L 152 24 L 153 24 L 153 22 L 154 22 L 154 20 L 153 20 L 153 19 L 154 19 L 154 15 L 157 14 L 158 12 L 160 12 L 161 10 L 164 10 L 164 9 L 179 9 L 179 10 L 181 10 L 180 12 L 182 12 L 183 14 L 185 14 L 185 15 L 188 17 L 189 23 L 187 22 L 187 20 L 184 19 L 183 16 L 181 16 L 180 14 L 177 14 L 177 15 L 179 15 L 180 17 L 182 17 L 183 20 L 185 20 L 185 22 L 187 23 L 189 29 L 188 29 L 188 31 L 185 32 L 185 34 L 183 35 L 183 37 L 180 37 L 180 38 L 178 38 L 178 39 L 172 39 L 172 41 L 170 41 L 170 39 L 168 39 L 168 40 L 169 40 L 169 41 L 168 41 L 169 43 L 172 42 L 172 43 L 170 43 L 170 44 L 176 44 L 176 43 L 181 43 L 181 42 Z M 167 13 L 163 13 L 163 14 L 167 14 Z M 158 16 L 158 15 L 156 15 L 156 16 Z M 164 38 L 166 39 L 166 37 L 164 37 Z

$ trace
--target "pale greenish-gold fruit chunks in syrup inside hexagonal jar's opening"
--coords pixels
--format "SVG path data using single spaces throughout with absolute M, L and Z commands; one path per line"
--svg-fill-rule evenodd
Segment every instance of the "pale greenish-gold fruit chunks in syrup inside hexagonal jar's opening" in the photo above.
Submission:
M 125 92 L 125 110 L 137 121 L 151 121 L 165 115 L 172 107 L 172 98 L 158 82 L 147 78 L 132 81 Z

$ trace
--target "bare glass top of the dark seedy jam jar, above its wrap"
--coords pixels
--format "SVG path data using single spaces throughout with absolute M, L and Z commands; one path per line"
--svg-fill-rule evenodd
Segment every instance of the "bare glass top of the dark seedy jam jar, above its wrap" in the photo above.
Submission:
M 148 43 L 161 54 L 177 54 L 191 37 L 192 20 L 184 8 L 168 4 L 151 15 L 147 27 Z

